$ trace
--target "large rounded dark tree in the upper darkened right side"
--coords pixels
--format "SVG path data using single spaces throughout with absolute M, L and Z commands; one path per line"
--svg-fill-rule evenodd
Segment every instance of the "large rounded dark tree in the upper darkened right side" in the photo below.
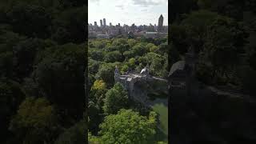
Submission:
M 228 71 L 234 70 L 239 54 L 244 52 L 246 37 L 244 28 L 230 18 L 216 18 L 208 27 L 203 52 L 214 66 L 214 75 L 229 78 Z

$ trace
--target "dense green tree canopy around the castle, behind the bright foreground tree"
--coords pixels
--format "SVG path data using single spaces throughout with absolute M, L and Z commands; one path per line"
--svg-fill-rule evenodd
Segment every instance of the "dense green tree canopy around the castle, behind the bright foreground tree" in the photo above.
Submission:
M 98 132 L 100 124 L 107 115 L 117 114 L 118 110 L 123 108 L 139 111 L 144 116 L 149 115 L 149 110 L 145 106 L 136 105 L 130 101 L 127 90 L 121 83 L 114 84 L 115 66 L 121 74 L 127 74 L 139 73 L 149 64 L 150 74 L 166 77 L 168 64 L 166 52 L 169 47 L 166 38 L 90 39 L 88 46 L 90 80 L 88 103 L 90 135 L 88 138 L 90 143 L 106 143 Z M 150 142 L 150 140 L 143 142 Z

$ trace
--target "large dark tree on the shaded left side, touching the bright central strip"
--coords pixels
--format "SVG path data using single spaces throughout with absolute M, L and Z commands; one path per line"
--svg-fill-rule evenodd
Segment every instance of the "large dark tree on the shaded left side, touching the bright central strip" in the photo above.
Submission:
M 56 46 L 38 63 L 32 78 L 38 83 L 40 96 L 58 106 L 63 120 L 78 120 L 84 110 L 84 71 L 86 54 L 83 46 Z M 70 98 L 75 96 L 74 98 Z

